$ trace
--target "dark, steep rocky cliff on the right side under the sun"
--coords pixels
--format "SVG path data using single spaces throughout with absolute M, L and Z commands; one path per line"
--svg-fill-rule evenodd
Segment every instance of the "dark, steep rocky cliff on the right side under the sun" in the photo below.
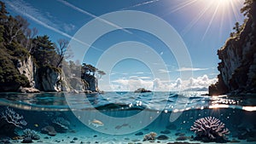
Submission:
M 250 17 L 236 37 L 218 50 L 218 83 L 209 87 L 210 95 L 256 92 L 256 2 Z

